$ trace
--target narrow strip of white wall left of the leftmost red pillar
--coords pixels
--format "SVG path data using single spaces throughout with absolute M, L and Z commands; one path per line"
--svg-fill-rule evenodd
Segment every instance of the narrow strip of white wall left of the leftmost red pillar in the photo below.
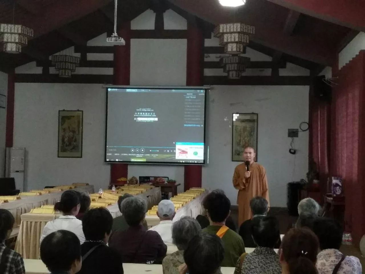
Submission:
M 8 75 L 0 72 L 0 94 L 8 94 Z M 0 108 L 0 177 L 5 176 L 5 129 L 6 109 Z

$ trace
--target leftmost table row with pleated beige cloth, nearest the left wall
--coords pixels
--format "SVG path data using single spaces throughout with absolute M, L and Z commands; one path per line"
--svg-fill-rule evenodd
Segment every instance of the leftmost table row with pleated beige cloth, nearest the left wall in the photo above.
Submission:
M 94 186 L 80 186 L 74 190 L 79 192 L 94 193 Z M 15 201 L 9 201 L 8 203 L 1 203 L 0 208 L 7 209 L 14 216 L 15 226 L 20 225 L 20 216 L 24 213 L 30 212 L 33 208 L 39 208 L 42 205 L 54 205 L 64 191 L 54 192 L 49 194 L 43 194 L 39 196 L 22 196 L 21 199 Z

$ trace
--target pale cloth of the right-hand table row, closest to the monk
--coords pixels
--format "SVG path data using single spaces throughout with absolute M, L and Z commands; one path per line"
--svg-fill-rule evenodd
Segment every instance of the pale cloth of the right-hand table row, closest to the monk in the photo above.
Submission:
M 203 200 L 205 196 L 208 195 L 208 193 L 209 193 L 208 190 L 204 191 L 201 195 L 199 195 L 192 201 L 188 202 L 182 208 L 179 208 L 176 211 L 175 217 L 172 221 L 176 222 L 185 216 L 196 218 L 196 216 L 200 214 L 205 215 Z M 158 225 L 160 223 L 160 218 L 158 218 L 157 215 L 154 216 L 146 215 L 146 221 L 147 221 L 147 226 L 150 228 L 153 227 L 154 225 Z

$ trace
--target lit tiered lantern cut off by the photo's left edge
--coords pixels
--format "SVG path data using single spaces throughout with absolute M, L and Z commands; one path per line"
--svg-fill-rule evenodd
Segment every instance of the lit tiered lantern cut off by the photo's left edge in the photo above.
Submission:
M 16 24 L 0 24 L 0 52 L 20 53 L 33 37 L 33 29 Z

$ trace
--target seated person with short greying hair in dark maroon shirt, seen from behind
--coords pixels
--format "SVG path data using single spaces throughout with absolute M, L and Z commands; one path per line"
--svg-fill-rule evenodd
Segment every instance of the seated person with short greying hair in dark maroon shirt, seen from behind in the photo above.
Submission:
M 122 202 L 121 207 L 129 228 L 113 233 L 109 246 L 122 254 L 123 263 L 161 263 L 167 246 L 156 231 L 147 231 L 142 226 L 147 211 L 146 202 L 130 197 Z

